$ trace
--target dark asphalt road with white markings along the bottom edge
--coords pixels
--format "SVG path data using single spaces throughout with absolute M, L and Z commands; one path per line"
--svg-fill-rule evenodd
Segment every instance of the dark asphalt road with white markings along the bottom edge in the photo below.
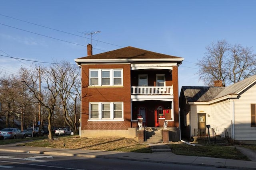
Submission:
M 130 160 L 113 160 L 105 158 L 84 158 L 77 156 L 56 156 L 49 154 L 32 154 L 26 152 L 0 152 L 0 169 L 2 170 L 232 170 L 226 168 L 190 166 L 180 164 L 161 164 Z

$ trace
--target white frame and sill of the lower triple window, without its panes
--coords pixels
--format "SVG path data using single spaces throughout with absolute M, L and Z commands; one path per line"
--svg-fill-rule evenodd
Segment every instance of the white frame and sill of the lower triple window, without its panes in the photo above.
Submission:
M 91 118 L 91 104 L 98 104 L 98 118 Z M 102 104 L 110 104 L 110 118 L 102 118 Z M 122 118 L 114 118 L 114 104 L 122 104 Z M 90 102 L 88 121 L 124 121 L 124 102 Z

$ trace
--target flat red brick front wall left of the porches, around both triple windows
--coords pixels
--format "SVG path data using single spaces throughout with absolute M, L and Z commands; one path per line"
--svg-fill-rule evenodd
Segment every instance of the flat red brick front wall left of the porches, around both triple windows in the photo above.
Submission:
M 123 69 L 123 86 L 124 87 L 88 87 L 89 84 L 89 69 Z M 99 64 L 99 65 L 82 65 L 82 130 L 98 129 L 120 130 L 117 124 L 120 124 L 122 129 L 131 127 L 131 86 L 130 86 L 130 64 Z M 124 122 L 88 122 L 89 119 L 89 102 L 123 102 L 124 103 Z M 106 125 L 103 125 L 106 124 Z M 91 127 L 92 126 L 92 127 Z M 95 127 L 94 127 L 95 126 Z M 99 129 L 98 129 L 99 130 Z

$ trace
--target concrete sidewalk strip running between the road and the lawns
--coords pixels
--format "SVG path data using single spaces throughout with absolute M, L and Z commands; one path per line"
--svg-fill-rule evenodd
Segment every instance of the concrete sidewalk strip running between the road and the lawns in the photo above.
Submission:
M 199 156 L 181 156 L 175 154 L 150 154 L 136 152 L 116 152 L 102 150 L 58 149 L 44 147 L 23 147 L 17 145 L 1 145 L 0 151 L 30 152 L 37 154 L 82 156 L 87 158 L 110 158 L 120 160 L 133 160 L 144 162 L 158 162 L 167 164 L 186 164 L 196 166 L 212 166 L 219 168 L 234 168 L 242 170 L 255 170 L 256 162 L 244 160 L 231 160 L 223 158 L 209 158 Z

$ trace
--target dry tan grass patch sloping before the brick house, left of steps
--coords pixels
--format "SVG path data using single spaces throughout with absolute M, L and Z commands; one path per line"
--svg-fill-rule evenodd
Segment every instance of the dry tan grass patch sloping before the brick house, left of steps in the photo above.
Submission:
M 151 149 L 146 144 L 140 144 L 134 139 L 123 137 L 97 137 L 85 138 L 79 136 L 59 137 L 55 140 L 48 139 L 33 141 L 21 144 L 33 147 L 51 147 L 68 149 L 92 149 L 92 150 L 114 150 L 124 152 L 146 152 L 151 153 Z

